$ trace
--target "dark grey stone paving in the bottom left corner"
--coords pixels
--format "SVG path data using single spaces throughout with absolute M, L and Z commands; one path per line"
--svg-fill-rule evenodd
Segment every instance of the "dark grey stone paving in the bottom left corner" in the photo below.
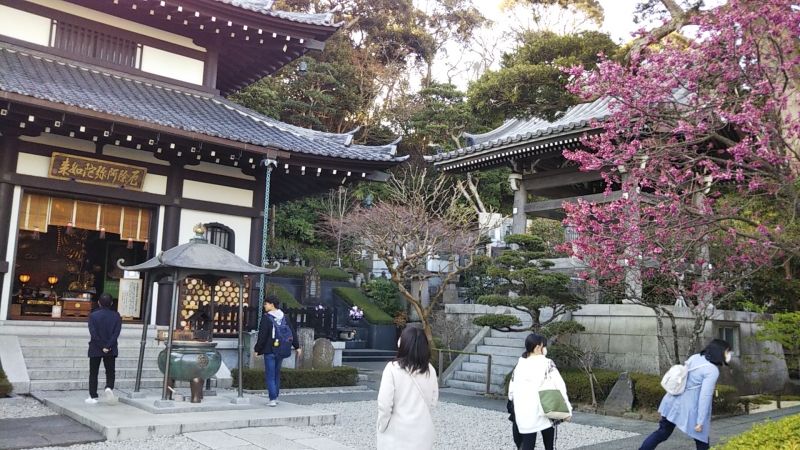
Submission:
M 104 440 L 102 434 L 64 416 L 0 420 L 0 448 L 3 449 L 72 445 Z

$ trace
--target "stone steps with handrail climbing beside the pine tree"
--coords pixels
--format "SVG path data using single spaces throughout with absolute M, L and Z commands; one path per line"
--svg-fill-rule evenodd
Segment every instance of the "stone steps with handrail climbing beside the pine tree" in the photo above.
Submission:
M 491 330 L 477 342 L 475 352 L 492 355 L 490 392 L 504 393 L 506 376 L 514 370 L 517 360 L 525 350 L 528 332 L 501 332 Z M 453 362 L 455 368 L 445 372 L 447 387 L 473 392 L 486 392 L 486 356 L 468 355 Z

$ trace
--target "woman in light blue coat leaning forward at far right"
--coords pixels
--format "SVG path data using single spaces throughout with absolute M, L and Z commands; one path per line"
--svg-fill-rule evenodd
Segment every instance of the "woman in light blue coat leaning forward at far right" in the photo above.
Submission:
M 692 355 L 686 361 L 689 369 L 686 390 L 680 395 L 664 396 L 658 407 L 661 414 L 658 430 L 645 439 L 639 450 L 656 448 L 669 438 L 675 427 L 694 439 L 697 450 L 707 450 L 711 401 L 719 378 L 719 367 L 730 360 L 731 346 L 722 339 L 714 339 L 702 352 Z

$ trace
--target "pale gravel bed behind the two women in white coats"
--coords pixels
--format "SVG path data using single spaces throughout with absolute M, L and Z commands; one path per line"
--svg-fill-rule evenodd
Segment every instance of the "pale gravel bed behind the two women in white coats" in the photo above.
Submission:
M 311 405 L 338 412 L 340 425 L 309 428 L 309 431 L 333 439 L 357 450 L 375 449 L 376 403 L 349 402 Z M 482 408 L 440 402 L 433 414 L 436 427 L 434 449 L 514 448 L 508 414 Z M 558 427 L 556 447 L 559 450 L 636 436 L 635 433 L 564 423 Z M 537 439 L 536 448 L 544 448 Z

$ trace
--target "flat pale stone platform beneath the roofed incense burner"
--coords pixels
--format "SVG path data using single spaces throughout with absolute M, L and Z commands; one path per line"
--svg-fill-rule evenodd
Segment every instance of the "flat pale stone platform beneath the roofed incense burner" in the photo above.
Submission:
M 120 395 L 124 395 L 119 392 Z M 174 436 L 196 431 L 223 430 L 232 428 L 265 426 L 332 425 L 336 414 L 306 406 L 279 402 L 277 407 L 268 407 L 264 397 L 248 396 L 249 405 L 231 404 L 230 394 L 217 396 L 218 402 L 227 401 L 232 410 L 205 410 L 168 412 L 154 414 L 123 402 L 87 405 L 83 392 L 39 392 L 34 393 L 44 404 L 59 414 L 71 417 L 96 430 L 109 441 L 123 439 L 145 439 L 151 436 Z M 227 398 L 226 398 L 227 397 Z M 141 400 L 150 405 L 159 398 L 153 393 Z M 211 397 L 207 397 L 211 399 Z M 176 402 L 179 407 L 193 405 Z M 217 406 L 220 406 L 218 404 Z M 247 406 L 247 409 L 241 409 Z M 209 407 L 213 405 L 209 403 Z

